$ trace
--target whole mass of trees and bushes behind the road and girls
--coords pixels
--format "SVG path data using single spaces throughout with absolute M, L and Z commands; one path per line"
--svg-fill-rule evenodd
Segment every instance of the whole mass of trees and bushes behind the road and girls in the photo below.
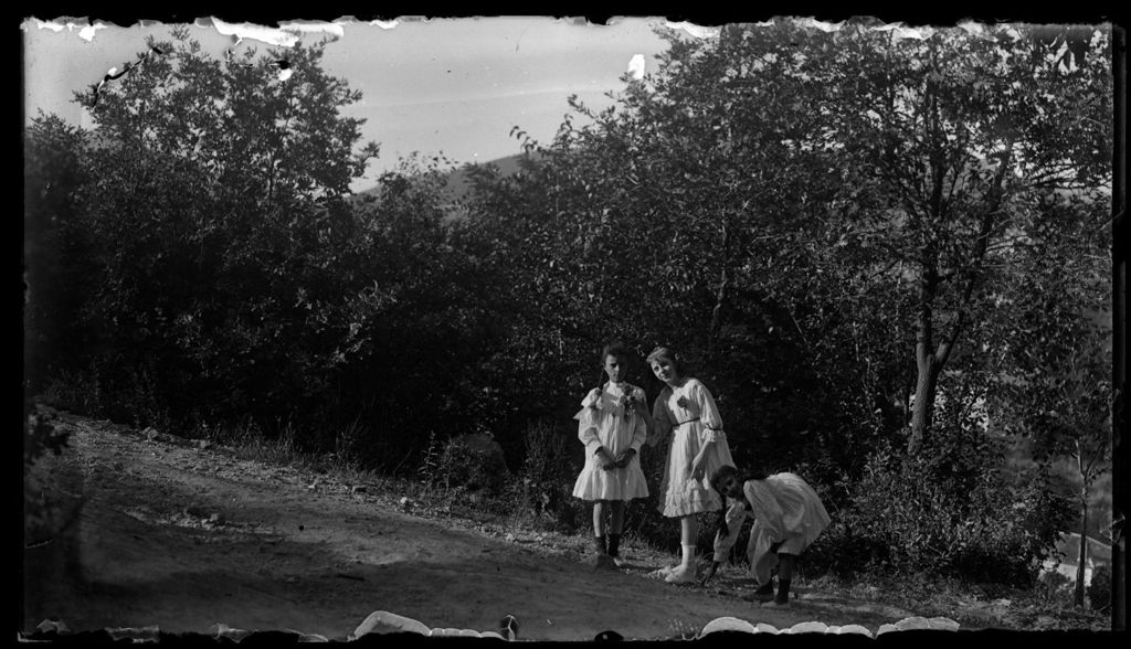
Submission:
M 516 127 L 518 172 L 473 165 L 454 204 L 439 156 L 351 194 L 378 148 L 323 44 L 283 78 L 181 29 L 77 97 L 93 131 L 26 131 L 29 386 L 433 485 L 521 467 L 521 507 L 572 526 L 559 429 L 597 352 L 627 341 L 654 399 L 642 358 L 673 345 L 740 467 L 802 473 L 835 513 L 813 563 L 1024 582 L 1068 525 L 1050 462 L 1085 490 L 1110 462 L 1110 36 L 918 36 L 667 33 L 655 75 L 571 97 L 550 142 Z M 1027 473 L 999 471 L 1000 434 L 1033 442 Z M 665 451 L 627 525 L 674 546 Z

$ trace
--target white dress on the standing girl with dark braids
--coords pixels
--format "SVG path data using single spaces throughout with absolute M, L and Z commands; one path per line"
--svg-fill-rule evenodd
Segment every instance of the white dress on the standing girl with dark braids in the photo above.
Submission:
M 640 470 L 640 447 L 648 438 L 644 417 L 625 408 L 625 395 L 644 399 L 644 390 L 629 383 L 605 383 L 595 388 L 581 401 L 577 436 L 585 444 L 585 467 L 573 484 L 576 497 L 596 500 L 631 500 L 648 497 L 648 483 Z M 633 449 L 636 455 L 623 468 L 604 469 L 595 453 L 605 447 L 610 456 Z

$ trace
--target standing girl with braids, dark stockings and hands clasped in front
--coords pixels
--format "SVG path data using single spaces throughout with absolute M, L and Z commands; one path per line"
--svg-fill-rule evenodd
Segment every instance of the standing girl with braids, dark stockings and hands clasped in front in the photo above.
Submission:
M 648 497 L 648 485 L 637 457 L 648 438 L 648 429 L 637 412 L 644 407 L 644 390 L 624 381 L 628 352 L 618 344 L 606 345 L 601 360 L 608 380 L 585 397 L 581 412 L 573 416 L 586 455 L 573 495 L 593 501 L 595 563 L 597 568 L 611 568 L 623 564 L 620 540 L 624 503 Z

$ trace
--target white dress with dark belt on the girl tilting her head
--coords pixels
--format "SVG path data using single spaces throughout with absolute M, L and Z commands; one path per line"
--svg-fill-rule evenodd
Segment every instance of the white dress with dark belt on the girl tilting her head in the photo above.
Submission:
M 658 434 L 671 431 L 659 511 L 676 518 L 718 510 L 723 501 L 711 488 L 710 477 L 724 465 L 733 467 L 734 459 L 710 391 L 697 379 L 677 388 L 667 386 L 656 398 L 653 419 Z M 707 470 L 697 481 L 691 476 L 691 461 L 707 442 L 715 443 L 705 458 Z

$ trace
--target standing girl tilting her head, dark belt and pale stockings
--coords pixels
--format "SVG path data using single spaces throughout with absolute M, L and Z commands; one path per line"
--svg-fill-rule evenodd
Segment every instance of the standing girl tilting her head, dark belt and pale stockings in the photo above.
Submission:
M 653 407 L 656 442 L 671 436 L 667 466 L 661 484 L 661 512 L 680 519 L 679 565 L 663 569 L 670 583 L 696 580 L 696 545 L 699 521 L 696 514 L 719 509 L 722 501 L 710 486 L 710 476 L 719 467 L 734 466 L 731 448 L 723 433 L 723 419 L 710 391 L 685 367 L 674 352 L 657 347 L 648 355 L 651 371 L 665 383 Z

